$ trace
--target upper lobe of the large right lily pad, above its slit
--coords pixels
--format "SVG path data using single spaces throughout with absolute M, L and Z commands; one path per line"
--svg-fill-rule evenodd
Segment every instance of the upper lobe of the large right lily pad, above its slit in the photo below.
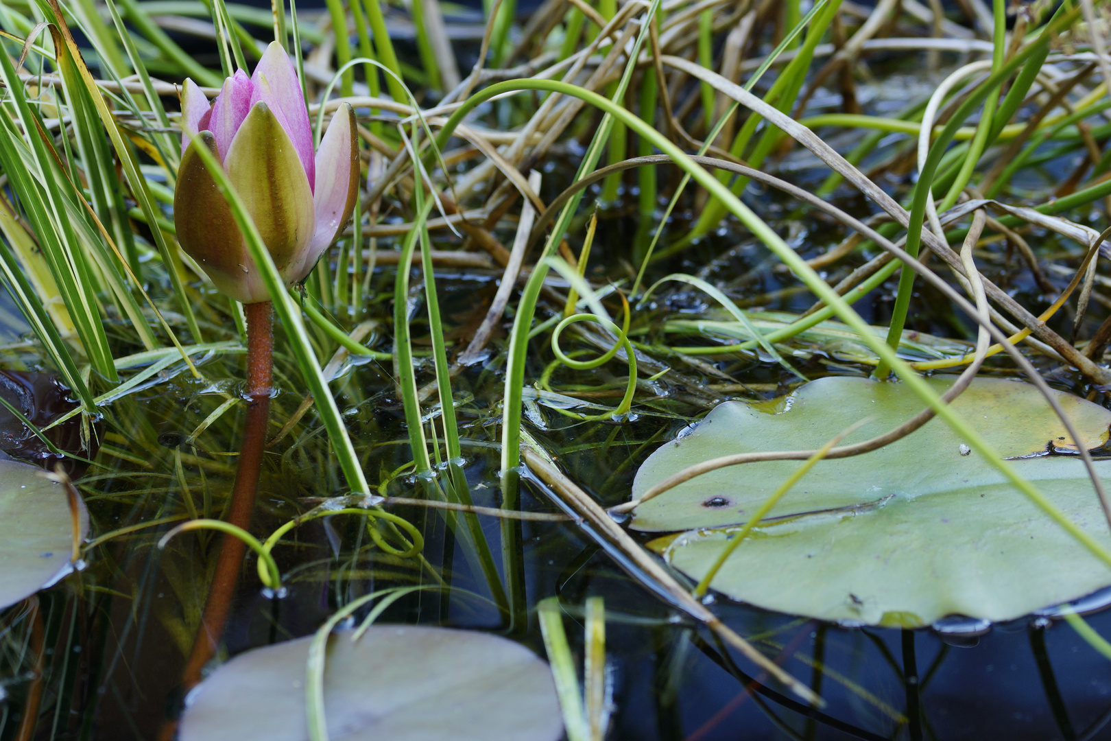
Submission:
M 929 379 L 941 393 L 952 377 Z M 1088 432 L 1084 447 L 1108 440 L 1111 412 L 1089 401 L 1057 393 L 1077 427 Z M 633 498 L 673 473 L 708 459 L 733 453 L 820 448 L 847 428 L 868 420 L 841 444 L 868 440 L 910 419 L 923 402 L 901 383 L 829 377 L 805 383 L 775 404 L 739 401 L 719 404 L 688 435 L 653 452 L 633 481 Z M 1038 454 L 1052 448 L 1074 451 L 1052 410 L 1028 383 L 977 379 L 953 404 L 1004 458 Z M 998 475 L 941 420 L 890 445 L 853 458 L 819 462 L 771 511 L 770 517 L 852 507 L 890 494 L 917 495 L 953 480 Z M 675 531 L 742 523 L 800 465 L 765 461 L 730 467 L 680 484 L 634 510 L 632 528 Z M 971 477 L 971 478 L 970 478 Z

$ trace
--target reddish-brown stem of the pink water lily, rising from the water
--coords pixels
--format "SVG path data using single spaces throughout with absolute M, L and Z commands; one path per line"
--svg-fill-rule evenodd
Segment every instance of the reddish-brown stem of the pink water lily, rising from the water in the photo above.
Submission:
M 259 485 L 259 470 L 267 440 L 267 418 L 270 413 L 270 381 L 273 370 L 273 306 L 270 301 L 247 303 L 247 425 L 239 453 L 239 469 L 231 500 L 223 519 L 248 530 L 254 511 L 254 494 Z M 243 565 L 247 547 L 238 538 L 223 535 L 220 555 L 212 577 L 204 615 L 197 632 L 192 653 L 182 675 L 182 688 L 188 692 L 200 682 L 201 670 L 212 658 L 223 634 L 228 612 L 231 610 L 236 584 Z

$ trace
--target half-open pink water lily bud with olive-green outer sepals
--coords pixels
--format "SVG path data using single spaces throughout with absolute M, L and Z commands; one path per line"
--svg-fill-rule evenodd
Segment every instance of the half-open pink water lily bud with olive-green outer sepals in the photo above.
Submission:
M 354 208 L 359 148 L 351 106 L 336 111 L 313 153 L 301 83 L 273 42 L 250 78 L 239 70 L 223 81 L 211 107 L 186 80 L 181 131 L 173 222 L 182 249 L 227 296 L 270 300 L 231 208 L 196 151 L 203 144 L 223 164 L 286 283 L 302 280 Z

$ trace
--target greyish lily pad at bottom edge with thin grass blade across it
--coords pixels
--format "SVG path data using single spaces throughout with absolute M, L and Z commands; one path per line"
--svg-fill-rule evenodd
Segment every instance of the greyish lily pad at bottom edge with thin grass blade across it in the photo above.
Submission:
M 374 625 L 333 633 L 324 669 L 331 741 L 556 741 L 548 664 L 513 641 L 467 630 Z M 304 741 L 312 637 L 248 651 L 187 700 L 181 741 Z

